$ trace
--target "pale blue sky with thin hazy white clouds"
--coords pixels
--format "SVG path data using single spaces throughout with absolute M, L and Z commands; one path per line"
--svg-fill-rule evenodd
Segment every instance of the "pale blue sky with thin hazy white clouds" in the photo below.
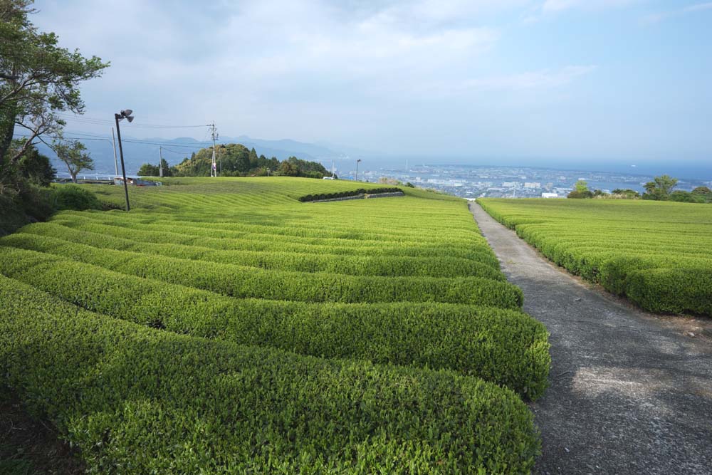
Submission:
M 433 160 L 712 162 L 712 1 L 38 0 L 111 66 L 85 116 L 135 137 L 329 142 Z M 110 125 L 69 121 L 68 131 Z M 109 122 L 107 122 L 109 123 Z

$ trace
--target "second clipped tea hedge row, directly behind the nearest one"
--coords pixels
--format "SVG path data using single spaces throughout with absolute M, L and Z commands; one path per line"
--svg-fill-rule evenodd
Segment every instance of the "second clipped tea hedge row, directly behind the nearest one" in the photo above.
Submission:
M 437 303 L 236 300 L 19 249 L 0 248 L 0 273 L 82 308 L 175 333 L 451 369 L 531 399 L 546 387 L 548 334 L 518 311 Z

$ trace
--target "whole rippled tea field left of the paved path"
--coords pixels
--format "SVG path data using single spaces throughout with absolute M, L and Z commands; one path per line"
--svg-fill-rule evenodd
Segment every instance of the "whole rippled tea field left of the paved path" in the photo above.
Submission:
M 90 469 L 529 473 L 548 333 L 464 200 L 164 182 L 0 239 L 0 374 Z

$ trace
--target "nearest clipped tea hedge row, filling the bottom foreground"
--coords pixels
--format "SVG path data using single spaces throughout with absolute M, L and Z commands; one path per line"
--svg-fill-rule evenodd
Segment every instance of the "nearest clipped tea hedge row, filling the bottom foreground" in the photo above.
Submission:
M 0 278 L 0 375 L 93 473 L 528 474 L 533 415 L 451 372 L 142 328 Z

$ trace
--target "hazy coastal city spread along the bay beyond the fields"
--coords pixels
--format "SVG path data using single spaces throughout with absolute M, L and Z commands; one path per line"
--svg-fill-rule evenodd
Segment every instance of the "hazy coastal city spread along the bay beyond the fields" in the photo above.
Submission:
M 353 178 L 350 172 L 348 178 Z M 344 177 L 347 178 L 347 177 Z M 366 169 L 359 179 L 378 182 L 397 179 L 416 187 L 436 189 L 463 198 L 557 198 L 566 197 L 577 180 L 585 180 L 589 189 L 612 192 L 634 189 L 644 192 L 652 175 L 614 172 L 544 169 L 535 167 L 483 167 L 466 165 L 419 165 L 408 169 Z M 712 181 L 679 179 L 676 189 L 690 191 L 711 186 Z

